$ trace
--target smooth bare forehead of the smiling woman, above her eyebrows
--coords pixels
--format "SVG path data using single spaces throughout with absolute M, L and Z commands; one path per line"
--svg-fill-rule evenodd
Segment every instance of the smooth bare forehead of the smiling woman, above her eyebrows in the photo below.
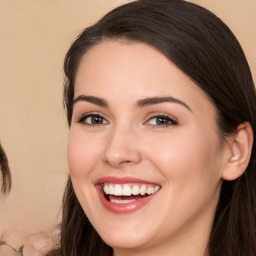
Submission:
M 106 41 L 86 52 L 76 76 L 75 97 L 80 94 L 134 100 L 172 96 L 214 109 L 207 94 L 170 59 L 138 42 Z

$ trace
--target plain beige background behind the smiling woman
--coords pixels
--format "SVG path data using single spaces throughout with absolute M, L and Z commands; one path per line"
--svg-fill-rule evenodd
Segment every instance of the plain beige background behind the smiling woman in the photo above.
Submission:
M 56 223 L 68 167 L 62 63 L 71 41 L 118 0 L 0 0 L 0 140 L 13 188 L 0 200 L 3 230 Z M 240 40 L 256 78 L 256 0 L 194 0 Z

